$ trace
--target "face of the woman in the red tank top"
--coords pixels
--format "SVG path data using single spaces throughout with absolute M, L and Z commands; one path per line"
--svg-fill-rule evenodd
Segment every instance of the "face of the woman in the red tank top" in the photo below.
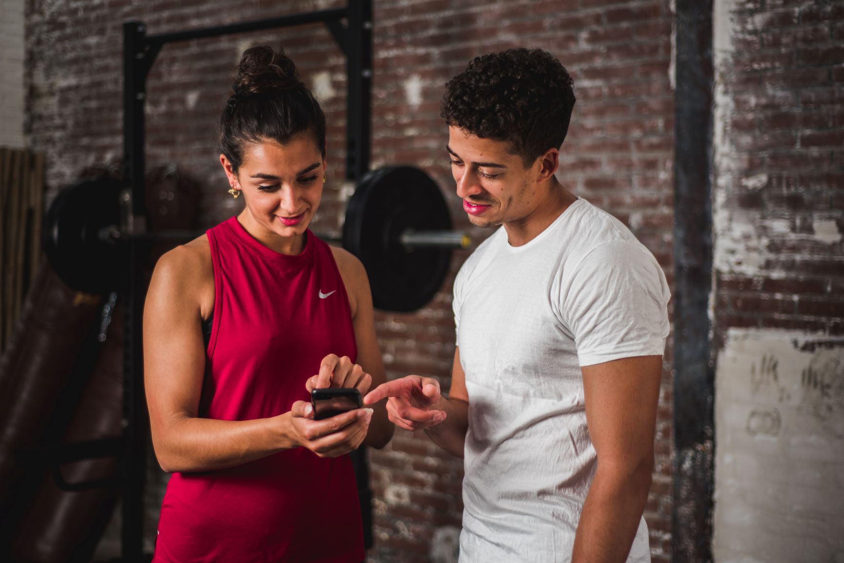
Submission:
M 241 168 L 235 174 L 224 155 L 220 162 L 235 190 L 246 200 L 241 215 L 253 235 L 278 234 L 295 238 L 305 233 L 322 198 L 326 161 L 309 131 L 282 145 L 275 141 L 244 147 Z M 252 230 L 252 229 L 250 229 Z

